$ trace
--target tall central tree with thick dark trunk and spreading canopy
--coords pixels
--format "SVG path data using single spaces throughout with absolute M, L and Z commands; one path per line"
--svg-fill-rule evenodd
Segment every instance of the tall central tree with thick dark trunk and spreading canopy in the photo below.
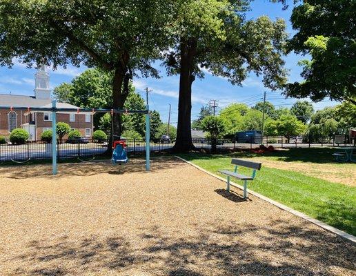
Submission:
M 165 53 L 169 74 L 179 74 L 177 141 L 174 150 L 194 148 L 191 139 L 191 95 L 202 68 L 240 85 L 249 72 L 263 75 L 265 86 L 280 88 L 286 81 L 281 55 L 285 23 L 268 17 L 246 20 L 250 1 L 183 1 L 172 26 L 171 51 Z

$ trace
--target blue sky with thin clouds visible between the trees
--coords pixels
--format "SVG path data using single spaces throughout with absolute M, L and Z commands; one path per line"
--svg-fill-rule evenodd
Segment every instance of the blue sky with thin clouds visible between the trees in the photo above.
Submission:
M 290 0 L 290 2 L 293 2 Z M 290 23 L 290 14 L 292 12 L 293 3 L 290 3 L 290 8 L 283 10 L 280 3 L 270 3 L 268 0 L 256 0 L 251 5 L 251 11 L 247 17 L 255 19 L 261 15 L 267 15 L 271 19 L 282 18 L 287 23 L 287 32 L 293 36 L 293 30 Z M 297 66 L 300 59 L 304 59 L 294 53 L 284 57 L 286 68 L 289 71 L 288 81 L 301 81 L 301 68 Z M 144 98 L 145 88 L 148 87 L 150 92 L 149 104 L 151 110 L 158 110 L 161 119 L 164 122 L 168 121 L 169 104 L 172 105 L 171 123 L 177 125 L 178 114 L 178 90 L 179 76 L 167 77 L 165 68 L 155 64 L 161 74 L 160 79 L 152 78 L 136 78 L 134 85 Z M 74 77 L 86 70 L 85 66 L 76 68 L 68 66 L 67 69 L 57 68 L 57 70 L 49 70 L 50 72 L 50 87 L 51 89 L 59 86 L 63 82 L 70 82 Z M 0 93 L 12 95 L 34 95 L 34 68 L 26 68 L 26 65 L 14 60 L 13 68 L 0 67 Z M 221 110 L 230 103 L 246 103 L 248 106 L 255 106 L 259 101 L 262 101 L 264 91 L 266 91 L 266 100 L 275 104 L 278 107 L 290 107 L 297 99 L 285 99 L 280 91 L 272 92 L 263 86 L 260 78 L 254 74 L 242 83 L 242 87 L 231 85 L 226 79 L 215 77 L 210 72 L 205 71 L 204 79 L 196 79 L 192 84 L 192 119 L 196 119 L 199 115 L 201 106 L 205 106 L 212 99 L 217 100 L 217 111 Z M 324 100 L 319 103 L 313 103 L 315 110 L 324 108 L 325 106 L 335 106 L 337 102 Z

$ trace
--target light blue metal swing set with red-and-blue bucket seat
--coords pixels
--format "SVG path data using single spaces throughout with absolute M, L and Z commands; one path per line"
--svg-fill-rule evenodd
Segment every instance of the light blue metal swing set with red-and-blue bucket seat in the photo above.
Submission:
M 6 108 L 13 110 L 12 106 L 0 106 L 0 108 Z M 92 112 L 94 113 L 107 113 L 110 112 L 111 117 L 114 114 L 144 114 L 146 115 L 146 170 L 150 170 L 150 111 L 148 105 L 146 106 L 146 110 L 120 110 L 120 109 L 101 109 L 101 108 L 57 108 L 57 102 L 52 101 L 52 108 L 29 108 L 29 107 L 16 107 L 17 110 L 27 110 L 28 112 L 31 111 L 40 111 L 40 112 L 52 112 L 52 174 L 57 175 L 57 134 L 56 134 L 56 124 L 57 124 L 57 112 Z M 79 121 L 79 120 L 77 120 Z M 112 130 L 113 130 L 113 120 L 112 120 Z M 111 131 L 113 132 L 113 131 Z M 128 162 L 127 152 L 126 152 L 126 144 L 125 141 L 117 140 L 114 141 L 115 135 L 112 134 L 112 164 L 126 164 Z M 78 157 L 79 159 L 79 157 Z M 82 160 L 83 162 L 92 161 L 89 160 Z M 30 161 L 30 157 L 26 161 L 15 161 L 15 163 L 26 163 Z

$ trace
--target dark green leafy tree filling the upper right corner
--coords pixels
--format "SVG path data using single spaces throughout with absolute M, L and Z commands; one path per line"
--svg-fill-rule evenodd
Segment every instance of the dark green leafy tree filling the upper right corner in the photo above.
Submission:
M 288 50 L 308 54 L 301 61 L 304 81 L 288 83 L 289 97 L 325 97 L 356 104 L 356 2 L 354 0 L 308 0 L 293 9 L 293 29 Z

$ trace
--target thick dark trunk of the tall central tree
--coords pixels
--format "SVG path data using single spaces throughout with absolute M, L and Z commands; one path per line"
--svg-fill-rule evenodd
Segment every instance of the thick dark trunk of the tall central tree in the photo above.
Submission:
M 195 81 L 194 66 L 197 54 L 196 39 L 181 39 L 181 61 L 179 76 L 178 126 L 177 139 L 173 150 L 188 152 L 195 149 L 192 144 L 191 112 L 192 112 L 192 82 Z

